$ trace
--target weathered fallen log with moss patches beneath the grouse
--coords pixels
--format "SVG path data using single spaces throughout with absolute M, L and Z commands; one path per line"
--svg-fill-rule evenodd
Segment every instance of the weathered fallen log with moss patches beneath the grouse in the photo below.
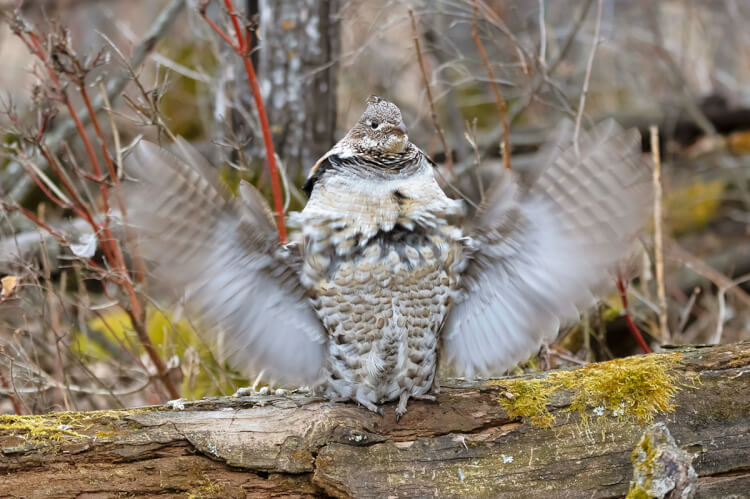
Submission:
M 652 421 L 695 497 L 750 496 L 750 343 L 559 373 L 445 382 L 399 423 L 296 393 L 0 416 L 0 496 L 641 497 Z

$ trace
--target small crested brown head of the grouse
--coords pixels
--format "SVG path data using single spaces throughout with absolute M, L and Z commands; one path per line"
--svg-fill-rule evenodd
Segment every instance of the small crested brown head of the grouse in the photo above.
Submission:
M 360 154 L 400 154 L 409 145 L 401 110 L 392 102 L 371 95 L 367 109 L 349 130 L 346 140 Z

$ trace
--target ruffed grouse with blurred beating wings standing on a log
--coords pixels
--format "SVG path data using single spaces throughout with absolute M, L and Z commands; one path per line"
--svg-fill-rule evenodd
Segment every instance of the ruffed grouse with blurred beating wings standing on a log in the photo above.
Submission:
M 438 357 L 512 367 L 612 282 L 650 206 L 637 131 L 614 122 L 547 146 L 533 179 L 504 172 L 476 216 L 445 195 L 401 112 L 371 97 L 312 168 L 281 246 L 258 192 L 230 201 L 200 154 L 141 142 L 129 220 L 159 281 L 184 294 L 240 371 L 377 411 L 432 398 Z

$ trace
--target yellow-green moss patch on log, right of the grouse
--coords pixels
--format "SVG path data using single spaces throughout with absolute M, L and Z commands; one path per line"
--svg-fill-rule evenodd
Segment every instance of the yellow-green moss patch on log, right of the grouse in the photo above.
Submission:
M 572 390 L 565 409 L 578 412 L 584 424 L 592 413 L 651 423 L 658 413 L 674 410 L 672 399 L 681 389 L 674 367 L 682 354 L 652 354 L 590 364 L 572 371 L 550 372 L 544 378 L 501 380 L 509 397 L 500 399 L 511 417 L 527 417 L 531 424 L 551 427 L 550 397 L 561 390 Z

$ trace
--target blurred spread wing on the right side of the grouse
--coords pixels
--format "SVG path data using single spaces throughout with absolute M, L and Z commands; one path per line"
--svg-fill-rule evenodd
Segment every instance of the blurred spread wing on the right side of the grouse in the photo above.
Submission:
M 443 330 L 467 374 L 501 372 L 576 320 L 613 282 L 651 207 L 637 130 L 604 122 L 530 184 L 506 173 L 477 215 L 474 252 Z

